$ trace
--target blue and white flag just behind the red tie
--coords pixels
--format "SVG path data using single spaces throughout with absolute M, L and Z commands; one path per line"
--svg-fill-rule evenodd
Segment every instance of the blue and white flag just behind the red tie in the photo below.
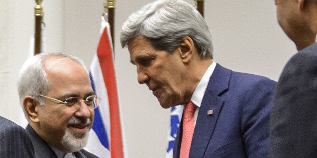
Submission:
M 175 142 L 176 134 L 178 131 L 179 123 L 182 119 L 183 109 L 184 109 L 183 105 L 177 105 L 177 106 L 171 107 L 171 127 L 167 137 L 169 144 L 166 151 L 166 158 L 173 157 L 174 142 Z

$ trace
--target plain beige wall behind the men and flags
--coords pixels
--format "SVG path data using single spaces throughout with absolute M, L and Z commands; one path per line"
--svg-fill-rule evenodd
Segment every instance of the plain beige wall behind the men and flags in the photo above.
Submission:
M 0 1 L 0 115 L 25 126 L 16 78 L 34 31 L 35 1 Z M 45 51 L 78 56 L 89 67 L 99 41 L 104 2 L 43 1 Z M 122 23 L 148 2 L 116 1 L 115 67 L 129 157 L 165 157 L 169 132 L 170 109 L 161 108 L 147 86 L 138 84 L 128 50 L 119 42 Z M 212 32 L 214 61 L 232 70 L 278 80 L 286 61 L 296 53 L 276 21 L 274 1 L 206 0 L 205 19 Z

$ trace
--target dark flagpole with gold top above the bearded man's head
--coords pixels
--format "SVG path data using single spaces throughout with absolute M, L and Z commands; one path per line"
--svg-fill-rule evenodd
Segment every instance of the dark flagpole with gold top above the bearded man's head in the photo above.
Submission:
M 35 16 L 35 35 L 34 35 L 34 55 L 41 53 L 41 24 L 43 18 L 43 7 L 41 6 L 42 0 L 35 0 L 36 6 L 34 7 Z

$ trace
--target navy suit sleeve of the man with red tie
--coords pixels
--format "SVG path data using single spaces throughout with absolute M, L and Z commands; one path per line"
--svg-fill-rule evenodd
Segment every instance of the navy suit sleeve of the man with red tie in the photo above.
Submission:
M 248 157 L 267 157 L 270 110 L 275 88 L 275 81 L 262 78 L 248 89 L 241 120 L 241 133 Z

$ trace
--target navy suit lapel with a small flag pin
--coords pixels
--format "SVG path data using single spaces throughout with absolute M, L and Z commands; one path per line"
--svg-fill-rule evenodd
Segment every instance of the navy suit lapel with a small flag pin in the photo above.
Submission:
M 199 109 L 189 157 L 203 157 L 224 103 L 220 96 L 228 89 L 231 73 L 216 65 Z M 212 114 L 209 110 L 213 110 Z

